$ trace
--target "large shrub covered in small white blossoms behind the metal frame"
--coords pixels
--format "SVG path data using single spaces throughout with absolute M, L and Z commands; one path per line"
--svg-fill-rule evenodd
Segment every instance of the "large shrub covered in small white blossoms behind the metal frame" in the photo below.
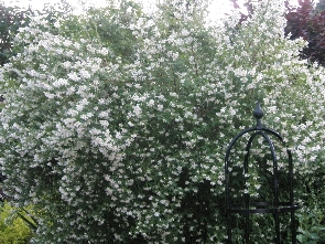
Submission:
M 282 1 L 241 25 L 205 15 L 129 2 L 20 29 L 1 68 L 0 153 L 6 192 L 40 210 L 33 243 L 224 243 L 225 150 L 258 99 L 296 177 L 324 171 L 325 73 L 284 36 Z

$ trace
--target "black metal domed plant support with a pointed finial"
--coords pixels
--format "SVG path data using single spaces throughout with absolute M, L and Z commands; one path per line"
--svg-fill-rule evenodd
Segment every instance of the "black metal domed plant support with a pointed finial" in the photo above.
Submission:
M 286 149 L 286 155 L 288 155 L 288 171 L 285 172 L 289 176 L 289 199 L 285 202 L 282 202 L 279 200 L 279 166 L 278 166 L 278 160 L 277 160 L 277 155 L 275 155 L 275 149 L 274 145 L 270 138 L 270 136 L 275 137 L 280 144 L 285 146 L 285 142 L 283 138 L 275 132 L 274 130 L 264 128 L 261 123 L 261 118 L 263 117 L 263 112 L 260 107 L 260 104 L 257 104 L 257 107 L 253 112 L 253 116 L 257 119 L 257 125 L 256 127 L 245 129 L 240 131 L 229 144 L 227 151 L 226 151 L 226 157 L 225 157 L 225 179 L 226 179 L 226 214 L 227 214 L 227 233 L 228 233 L 228 240 L 227 243 L 231 244 L 232 243 L 232 236 L 231 236 L 231 219 L 235 218 L 235 213 L 237 214 L 242 214 L 245 218 L 245 243 L 249 244 L 250 243 L 250 215 L 251 214 L 272 214 L 274 219 L 274 243 L 280 244 L 281 243 L 281 232 L 280 232 L 280 214 L 282 213 L 290 213 L 291 218 L 291 236 L 292 236 L 292 244 L 296 243 L 296 233 L 295 233 L 295 221 L 294 221 L 294 211 L 297 210 L 300 206 L 297 203 L 294 202 L 293 198 L 293 166 L 292 166 L 292 155 L 289 149 Z M 235 204 L 236 202 L 236 197 L 231 194 L 231 189 L 230 189 L 230 170 L 229 170 L 229 157 L 230 153 L 232 153 L 231 149 L 235 146 L 235 144 L 246 134 L 251 134 L 251 136 L 248 139 L 248 142 L 246 145 L 246 155 L 243 158 L 243 173 L 247 176 L 249 173 L 249 156 L 250 156 L 250 149 L 252 146 L 252 142 L 256 138 L 262 137 L 264 141 L 269 146 L 270 155 L 272 158 L 272 188 L 273 188 L 273 200 L 270 201 L 258 201 L 258 202 L 251 202 L 251 197 L 248 191 L 245 191 L 243 193 L 243 203 L 241 204 Z M 247 181 L 245 178 L 245 185 Z M 243 185 L 243 188 L 246 188 Z

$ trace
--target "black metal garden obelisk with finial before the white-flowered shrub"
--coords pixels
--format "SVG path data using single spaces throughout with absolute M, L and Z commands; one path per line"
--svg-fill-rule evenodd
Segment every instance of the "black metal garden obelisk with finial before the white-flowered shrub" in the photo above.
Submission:
M 283 177 L 283 172 L 282 176 L 280 172 L 280 168 L 279 163 L 278 163 L 278 159 L 277 159 L 277 155 L 275 155 L 275 148 L 274 148 L 274 144 L 272 142 L 271 138 L 269 137 L 274 136 L 275 138 L 278 138 L 280 140 L 281 144 L 284 144 L 283 138 L 275 132 L 272 129 L 268 129 L 266 127 L 262 126 L 261 124 L 261 118 L 263 117 L 263 112 L 260 107 L 260 104 L 258 103 L 253 115 L 257 119 L 257 125 L 256 127 L 251 127 L 248 129 L 243 129 L 242 131 L 240 131 L 229 144 L 228 148 L 227 148 L 227 152 L 226 152 L 226 159 L 225 159 L 225 179 L 226 179 L 226 213 L 227 213 L 227 229 L 228 229 L 228 243 L 232 243 L 231 241 L 231 229 L 232 229 L 232 224 L 231 224 L 231 220 L 234 218 L 235 214 L 239 214 L 239 215 L 245 215 L 245 243 L 248 244 L 250 243 L 250 224 L 249 224 L 249 220 L 250 220 L 250 215 L 251 214 L 273 214 L 274 218 L 274 232 L 275 232 L 275 237 L 274 243 L 280 244 L 281 242 L 281 233 L 280 233 L 280 214 L 282 213 L 288 213 L 290 212 L 291 214 L 291 240 L 292 243 L 296 243 L 296 231 L 295 231 L 295 220 L 294 220 L 294 211 L 297 210 L 300 208 L 300 205 L 297 203 L 294 202 L 294 198 L 293 198 L 293 167 L 292 167 L 292 155 L 291 155 L 291 150 L 286 149 L 286 155 L 288 155 L 288 172 L 285 172 L 286 178 Z M 242 177 L 242 181 L 240 183 L 243 183 L 243 185 L 241 185 L 242 188 L 240 190 L 238 190 L 239 192 L 236 192 L 236 190 L 231 189 L 230 190 L 230 185 L 235 185 L 231 179 L 231 177 L 236 177 L 236 178 L 240 178 L 240 176 L 238 174 L 238 171 L 231 173 L 232 168 L 230 166 L 234 165 L 234 162 L 231 162 L 230 159 L 230 153 L 234 152 L 231 149 L 234 149 L 235 144 L 242 138 L 245 135 L 252 132 L 248 139 L 248 142 L 246 145 L 246 153 L 245 153 L 245 158 L 243 158 L 243 177 Z M 259 201 L 254 201 L 251 202 L 251 192 L 248 189 L 249 188 L 249 179 L 250 177 L 253 177 L 254 180 L 257 180 L 258 178 L 261 178 L 261 176 L 250 176 L 250 169 L 252 168 L 249 166 L 249 159 L 250 159 L 250 152 L 251 152 L 251 147 L 252 147 L 252 142 L 253 140 L 256 140 L 258 137 L 262 137 L 263 141 L 262 144 L 267 144 L 267 146 L 269 147 L 270 153 L 271 153 L 271 160 L 272 160 L 272 166 L 271 166 L 271 172 L 269 172 L 269 174 L 271 177 L 271 179 L 268 180 L 268 183 L 271 184 L 270 189 L 272 191 L 272 198 L 268 199 L 268 200 L 261 200 L 261 195 L 258 193 L 256 195 L 254 199 L 258 199 Z M 259 167 L 266 167 L 266 165 L 259 163 Z M 282 167 L 282 170 L 285 169 L 285 167 Z M 254 169 L 252 169 L 254 170 Z M 235 170 L 236 171 L 236 170 Z M 258 169 L 257 171 L 261 172 L 261 169 Z M 234 176 L 231 176 L 234 174 Z M 268 178 L 268 177 L 266 177 Z M 280 181 L 281 180 L 285 180 L 285 182 L 281 182 L 282 185 L 285 185 L 286 183 L 289 184 L 289 200 L 288 201 L 280 201 L 280 195 L 281 195 L 281 190 L 280 190 Z M 259 187 L 258 190 L 262 188 Z M 240 191 L 241 191 L 241 195 L 242 198 L 240 199 L 240 197 L 238 198 L 238 195 L 240 195 Z M 236 194 L 237 193 L 237 194 Z M 253 194 L 253 193 L 252 193 Z M 237 198 L 237 200 L 236 200 Z M 268 195 L 267 195 L 268 198 Z M 271 241 L 271 240 L 270 240 Z

